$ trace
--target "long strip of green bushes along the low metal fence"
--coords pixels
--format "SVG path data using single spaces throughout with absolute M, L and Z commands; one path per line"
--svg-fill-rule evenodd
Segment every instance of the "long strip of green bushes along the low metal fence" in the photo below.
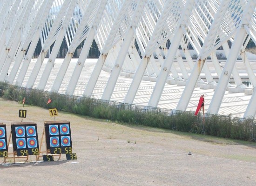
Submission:
M 0 96 L 3 99 L 22 102 L 25 97 L 28 105 L 56 108 L 59 111 L 132 125 L 152 126 L 189 133 L 203 133 L 236 140 L 256 140 L 255 119 L 207 113 L 204 116 L 202 113 L 195 116 L 194 112 L 70 96 L 8 85 L 3 82 L 0 83 L 0 89 Z M 47 105 L 49 98 L 52 102 Z

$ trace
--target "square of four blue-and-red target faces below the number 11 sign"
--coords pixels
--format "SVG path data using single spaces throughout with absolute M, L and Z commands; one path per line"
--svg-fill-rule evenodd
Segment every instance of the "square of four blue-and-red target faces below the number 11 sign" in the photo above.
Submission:
M 38 148 L 36 124 L 12 124 L 13 150 Z

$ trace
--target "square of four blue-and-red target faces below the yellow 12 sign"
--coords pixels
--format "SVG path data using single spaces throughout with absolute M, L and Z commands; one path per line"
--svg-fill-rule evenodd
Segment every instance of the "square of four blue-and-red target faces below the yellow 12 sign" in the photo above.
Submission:
M 47 149 L 72 147 L 70 123 L 45 123 Z

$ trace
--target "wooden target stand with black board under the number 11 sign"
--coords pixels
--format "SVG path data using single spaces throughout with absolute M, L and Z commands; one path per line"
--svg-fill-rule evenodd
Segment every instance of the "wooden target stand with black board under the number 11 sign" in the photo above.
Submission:
M 33 141 L 33 144 L 34 144 L 33 148 L 27 148 L 27 145 L 24 145 L 24 146 L 26 146 L 25 148 L 20 148 L 20 149 L 17 148 L 19 145 L 17 146 L 17 143 L 16 143 L 15 140 L 18 139 L 17 141 L 19 142 L 20 138 L 17 138 L 18 136 L 14 137 L 14 134 L 17 132 L 15 130 L 13 130 L 15 127 L 24 127 L 24 129 L 26 128 L 28 130 L 29 130 L 29 127 L 34 127 L 34 131 L 33 131 L 34 134 L 32 135 L 33 140 L 34 140 Z M 36 123 L 34 123 L 34 122 L 12 123 L 11 128 L 12 128 L 12 130 L 10 131 L 8 141 L 7 141 L 7 149 L 9 149 L 10 140 L 11 140 L 11 137 L 12 137 L 12 139 L 13 139 L 13 144 L 12 144 L 13 145 L 13 152 L 8 153 L 8 156 L 4 158 L 3 163 L 6 163 L 6 159 L 13 159 L 13 162 L 15 163 L 16 159 L 24 159 L 24 158 L 25 158 L 24 162 L 27 162 L 30 155 L 37 155 L 39 153 Z M 31 129 L 33 129 L 33 128 L 31 128 Z M 24 134 L 23 137 L 28 140 L 29 139 L 29 134 L 28 133 L 27 133 L 27 135 Z M 22 138 L 22 139 L 24 139 L 24 138 Z M 9 155 L 12 155 L 12 156 L 9 156 Z

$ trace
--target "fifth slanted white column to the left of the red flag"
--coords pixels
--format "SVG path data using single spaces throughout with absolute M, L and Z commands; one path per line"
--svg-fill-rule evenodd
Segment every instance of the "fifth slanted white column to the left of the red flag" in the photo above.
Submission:
M 97 60 L 97 63 L 93 70 L 93 73 L 91 74 L 88 84 L 84 90 L 84 93 L 83 93 L 84 96 L 91 97 L 94 87 L 95 87 L 97 80 L 99 78 L 99 75 L 101 73 L 102 66 L 104 65 L 104 62 L 107 58 L 107 55 L 108 54 L 100 55 L 99 59 Z

